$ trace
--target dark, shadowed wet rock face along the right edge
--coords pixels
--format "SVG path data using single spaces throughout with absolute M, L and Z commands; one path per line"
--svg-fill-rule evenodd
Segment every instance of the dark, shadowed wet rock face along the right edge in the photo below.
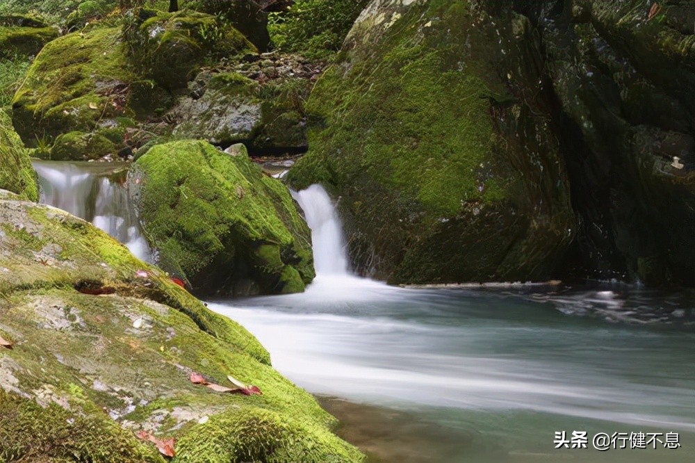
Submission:
M 695 5 L 560 3 L 532 21 L 581 218 L 568 266 L 695 284 Z

